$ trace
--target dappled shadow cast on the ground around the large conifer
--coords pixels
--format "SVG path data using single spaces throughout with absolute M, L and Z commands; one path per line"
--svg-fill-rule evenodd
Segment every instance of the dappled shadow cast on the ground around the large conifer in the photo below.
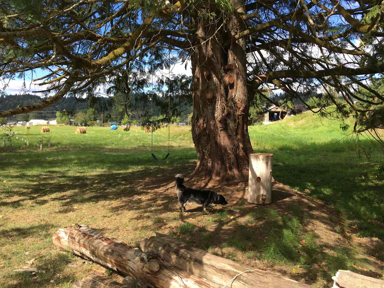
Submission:
M 333 149 L 331 152 L 344 151 L 344 148 L 332 148 L 330 145 L 324 146 L 324 150 L 327 151 L 327 149 Z M 303 151 L 309 152 L 303 153 L 299 149 L 292 149 L 288 146 L 285 150 L 277 149 L 265 152 L 271 152 L 275 155 L 273 172 L 277 180 L 292 187 L 298 187 L 301 191 L 308 189 L 310 196 L 300 193 L 273 192 L 273 204 L 263 207 L 250 205 L 245 201 L 246 183 L 215 182 L 212 190 L 223 194 L 230 200 L 230 204 L 228 207 L 211 211 L 205 215 L 206 225 L 196 228 L 194 236 L 189 237 L 189 235 L 184 234 L 181 238 L 193 243 L 198 248 L 209 249 L 211 246 L 220 247 L 222 250 L 224 248 L 221 255 L 227 258 L 232 257 L 235 260 L 237 256 L 230 253 L 255 251 L 257 255 L 255 257 L 265 259 L 269 253 L 271 259 L 276 258 L 273 256 L 276 250 L 271 249 L 271 246 L 275 245 L 281 250 L 277 254 L 283 255 L 278 255 L 280 257 L 278 261 L 284 262 L 286 259 L 288 262 L 305 263 L 305 269 L 300 277 L 308 276 L 311 279 L 310 283 L 315 281 L 313 279 L 315 275 L 330 280 L 334 269 L 351 268 L 350 261 L 354 259 L 353 250 L 348 247 L 350 237 L 344 231 L 340 215 L 335 214 L 329 207 L 312 197 L 336 203 L 334 205 L 339 211 L 346 213 L 348 218 L 363 221 L 366 219 L 367 213 L 373 211 L 377 215 L 377 220 L 380 219 L 381 215 L 384 215 L 381 205 L 382 198 L 379 197 L 380 194 L 378 193 L 379 189 L 383 188 L 382 184 L 377 187 L 367 187 L 364 181 L 356 179 L 356 171 L 359 170 L 361 175 L 367 177 L 369 175 L 368 169 L 360 169 L 364 167 L 360 164 L 353 164 L 356 167 L 351 170 L 349 169 L 351 164 L 348 162 L 340 162 L 332 157 L 321 156 L 322 146 L 304 147 Z M 60 159 L 65 159 L 66 156 L 68 156 L 68 152 L 61 154 Z M 94 158 L 94 156 L 92 157 Z M 132 161 L 134 158 L 129 159 Z M 141 158 L 135 159 L 139 161 Z M 21 163 L 22 159 L 19 160 Z M 102 160 L 98 160 L 96 164 L 92 165 L 99 166 Z M 107 160 L 104 159 L 103 161 Z M 54 166 L 58 163 L 57 161 L 57 159 L 48 160 L 46 165 Z M 81 156 L 76 161 L 83 161 L 86 165 L 87 161 L 91 161 L 91 158 Z M 152 162 L 149 164 L 146 161 L 143 163 L 136 162 L 130 165 L 137 169 L 126 173 L 119 170 L 123 169 L 125 165 L 124 157 L 119 159 L 118 156 L 114 156 L 111 161 L 105 166 L 110 169 L 111 172 L 109 173 L 96 171 L 91 174 L 71 175 L 70 173 L 60 174 L 57 170 L 46 170 L 45 175 L 40 175 L 40 183 L 28 184 L 23 191 L 10 192 L 8 194 L 10 196 L 24 197 L 10 205 L 21 208 L 26 201 L 40 206 L 45 205 L 46 201 L 56 201 L 62 207 L 56 213 L 65 214 L 72 211 L 72 206 L 78 204 L 118 200 L 118 203 L 108 206 L 106 210 L 114 214 L 124 214 L 124 211 L 131 210 L 135 212 L 134 220 L 148 220 L 145 224 L 147 226 L 142 228 L 147 230 L 162 228 L 165 225 L 163 221 L 167 218 L 166 214 L 170 211 L 178 212 L 177 199 L 173 191 L 174 175 L 180 172 L 188 175 L 193 171 L 194 164 L 186 166 L 184 161 L 178 162 L 175 159 L 164 166 L 158 163 L 155 165 Z M 40 164 L 41 162 L 44 161 L 41 160 Z M 59 165 L 66 167 L 71 164 L 73 164 L 72 160 L 64 160 Z M 148 167 L 142 168 L 142 166 Z M 20 172 L 15 175 L 15 181 L 23 181 L 28 177 L 30 175 Z M 192 179 L 190 182 L 190 187 L 198 188 L 207 185 L 201 183 L 199 179 Z M 48 199 L 40 199 L 43 197 Z M 6 201 L 1 203 L 7 205 Z M 267 211 L 265 215 L 264 212 L 260 212 L 263 209 Z M 189 219 L 201 214 L 201 207 L 191 207 L 187 215 L 178 214 L 178 220 L 187 223 Z M 242 217 L 246 218 L 245 223 L 236 220 Z M 305 239 L 293 239 L 296 241 L 293 243 L 297 244 L 295 247 L 300 248 L 296 249 L 298 251 L 292 249 L 292 246 L 286 247 L 286 243 L 281 240 L 284 237 L 282 233 L 285 230 L 288 233 L 288 230 L 291 229 L 289 225 L 293 217 L 298 219 L 305 235 L 308 236 L 304 244 L 300 244 L 299 240 Z M 212 218 L 210 222 L 208 222 L 209 218 Z M 71 224 L 73 223 L 68 223 L 68 225 Z M 380 229 L 379 224 L 373 225 L 373 227 Z M 180 229 L 177 229 L 174 229 L 172 233 L 180 232 Z M 323 229 L 323 232 L 320 229 Z M 324 235 L 328 236 L 326 233 L 329 233 L 329 237 L 334 238 L 332 242 L 326 244 L 326 241 L 318 242 L 316 240 L 321 237 L 324 238 Z M 337 240 L 337 235 L 341 235 L 340 241 Z M 311 245 L 307 245 L 310 242 Z M 299 247 L 299 245 L 303 246 Z M 225 252 L 228 247 L 237 252 L 230 250 Z M 331 252 L 323 252 L 323 250 Z M 238 260 L 243 261 L 242 259 Z M 323 267 L 322 262 L 330 264 Z M 358 273 L 362 272 L 358 271 Z M 289 276 L 295 277 L 293 274 Z

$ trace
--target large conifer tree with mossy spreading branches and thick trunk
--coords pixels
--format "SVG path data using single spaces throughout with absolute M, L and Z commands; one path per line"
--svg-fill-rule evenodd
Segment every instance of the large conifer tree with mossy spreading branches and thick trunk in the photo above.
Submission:
M 252 152 L 247 121 L 255 95 L 282 89 L 300 99 L 321 89 L 339 112 L 356 115 L 356 127 L 382 109 L 384 96 L 370 85 L 384 71 L 383 5 L 379 0 L 4 0 L 0 76 L 43 69 L 46 74 L 35 81 L 49 84 L 51 93 L 0 117 L 36 111 L 105 83 L 125 93 L 129 107 L 130 92 L 147 91 L 159 68 L 190 59 L 196 172 L 242 177 Z M 172 83 L 166 80 L 169 89 Z M 369 105 L 354 102 L 361 88 L 369 93 L 359 103 Z M 142 93 L 142 101 L 151 98 Z

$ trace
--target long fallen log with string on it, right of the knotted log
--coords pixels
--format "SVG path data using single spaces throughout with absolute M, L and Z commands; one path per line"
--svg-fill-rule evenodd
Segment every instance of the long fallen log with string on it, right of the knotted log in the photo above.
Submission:
M 185 270 L 187 273 L 205 278 L 214 287 L 224 287 L 225 285 L 227 285 L 226 288 L 312 287 L 275 273 L 215 256 L 160 233 L 142 240 L 140 248 L 143 252 L 154 253 L 170 265 Z M 243 273 L 244 271 L 252 272 Z M 238 274 L 241 275 L 233 280 L 233 277 Z

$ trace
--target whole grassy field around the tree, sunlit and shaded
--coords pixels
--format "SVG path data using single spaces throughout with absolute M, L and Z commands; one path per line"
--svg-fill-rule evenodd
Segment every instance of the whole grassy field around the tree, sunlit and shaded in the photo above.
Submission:
M 383 247 L 361 245 L 359 238 L 384 240 L 384 179 L 376 169 L 383 156 L 372 148 L 369 159 L 359 158 L 351 131 L 341 131 L 337 121 L 303 113 L 250 127 L 255 152 L 274 154 L 275 179 L 303 193 L 276 192 L 274 203 L 263 207 L 248 204 L 247 184 L 223 183 L 212 189 L 229 204 L 208 215 L 194 205 L 180 214 L 173 189 L 164 188 L 176 173 L 194 169 L 189 127 L 171 128 L 170 156 L 162 162 L 151 157 L 151 134 L 136 127 L 87 127 L 84 135 L 73 127 L 50 128 L 15 127 L 13 149 L 0 150 L 3 287 L 70 287 L 88 273 L 104 272 L 53 246 L 52 234 L 73 223 L 132 245 L 165 233 L 315 286 L 329 286 L 338 269 L 383 276 Z M 26 137 L 29 146 L 21 140 Z M 164 157 L 167 149 L 168 131 L 155 132 L 154 153 Z M 14 271 L 31 259 L 45 273 Z

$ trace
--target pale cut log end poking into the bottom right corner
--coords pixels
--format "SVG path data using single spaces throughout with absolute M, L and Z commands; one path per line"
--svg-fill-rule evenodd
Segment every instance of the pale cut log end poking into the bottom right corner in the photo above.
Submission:
M 376 279 L 349 270 L 339 270 L 332 277 L 332 288 L 383 288 L 384 280 Z

